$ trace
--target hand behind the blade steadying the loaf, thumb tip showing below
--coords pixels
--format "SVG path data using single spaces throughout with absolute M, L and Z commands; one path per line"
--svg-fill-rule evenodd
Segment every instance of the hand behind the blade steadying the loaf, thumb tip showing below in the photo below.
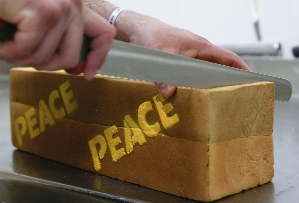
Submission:
M 123 11 L 117 18 L 116 39 L 251 71 L 237 54 L 211 44 L 192 32 L 132 11 Z M 174 85 L 157 83 L 155 85 L 164 97 L 173 95 L 176 89 Z

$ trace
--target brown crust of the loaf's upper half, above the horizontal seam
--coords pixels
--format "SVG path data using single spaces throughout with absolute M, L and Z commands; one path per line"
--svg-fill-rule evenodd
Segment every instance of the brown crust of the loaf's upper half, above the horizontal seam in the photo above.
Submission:
M 47 104 L 51 91 L 69 81 L 80 107 L 66 117 L 86 123 L 123 126 L 123 118 L 131 115 L 137 121 L 137 110 L 158 94 L 154 84 L 141 81 L 83 76 L 61 72 L 27 71 L 13 68 L 10 72 L 10 101 L 38 108 L 40 99 Z M 257 82 L 244 85 L 196 89 L 178 87 L 163 102 L 171 102 L 172 116 L 180 122 L 161 133 L 203 143 L 218 142 L 249 135 L 271 135 L 273 132 L 274 83 Z M 59 104 L 57 104 L 59 105 Z M 157 109 L 147 114 L 149 121 L 159 121 Z

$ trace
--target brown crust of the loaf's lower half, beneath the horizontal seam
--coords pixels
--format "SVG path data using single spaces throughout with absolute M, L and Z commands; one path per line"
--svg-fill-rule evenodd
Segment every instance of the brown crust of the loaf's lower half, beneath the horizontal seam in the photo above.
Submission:
M 30 108 L 11 102 L 12 120 Z M 37 116 L 38 109 L 35 111 Z M 15 136 L 12 143 L 64 164 L 200 201 L 213 201 L 273 178 L 273 138 L 263 135 L 201 143 L 159 134 L 146 137 L 143 145 L 136 143 L 117 162 L 107 150 L 97 171 L 88 141 L 103 135 L 108 127 L 62 118 L 33 139 L 26 133 L 22 146 Z M 125 148 L 124 128 L 117 129 L 115 136 L 123 141 L 117 148 Z

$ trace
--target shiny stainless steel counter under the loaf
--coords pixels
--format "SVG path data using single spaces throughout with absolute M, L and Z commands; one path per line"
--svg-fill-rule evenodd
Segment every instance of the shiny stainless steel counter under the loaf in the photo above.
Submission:
M 8 94 L 8 78 L 2 75 L 0 202 L 198 202 L 17 150 L 10 142 Z M 299 202 L 299 95 L 275 103 L 273 137 L 272 182 L 215 202 Z

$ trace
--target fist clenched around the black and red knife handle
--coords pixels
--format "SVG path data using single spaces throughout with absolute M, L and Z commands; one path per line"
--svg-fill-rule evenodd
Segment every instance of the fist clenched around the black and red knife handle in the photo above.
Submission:
M 104 62 L 115 34 L 81 0 L 0 0 L 0 19 L 17 25 L 13 40 L 0 43 L 0 58 L 42 70 L 77 66 L 83 34 L 91 37 L 83 68 L 87 79 Z

